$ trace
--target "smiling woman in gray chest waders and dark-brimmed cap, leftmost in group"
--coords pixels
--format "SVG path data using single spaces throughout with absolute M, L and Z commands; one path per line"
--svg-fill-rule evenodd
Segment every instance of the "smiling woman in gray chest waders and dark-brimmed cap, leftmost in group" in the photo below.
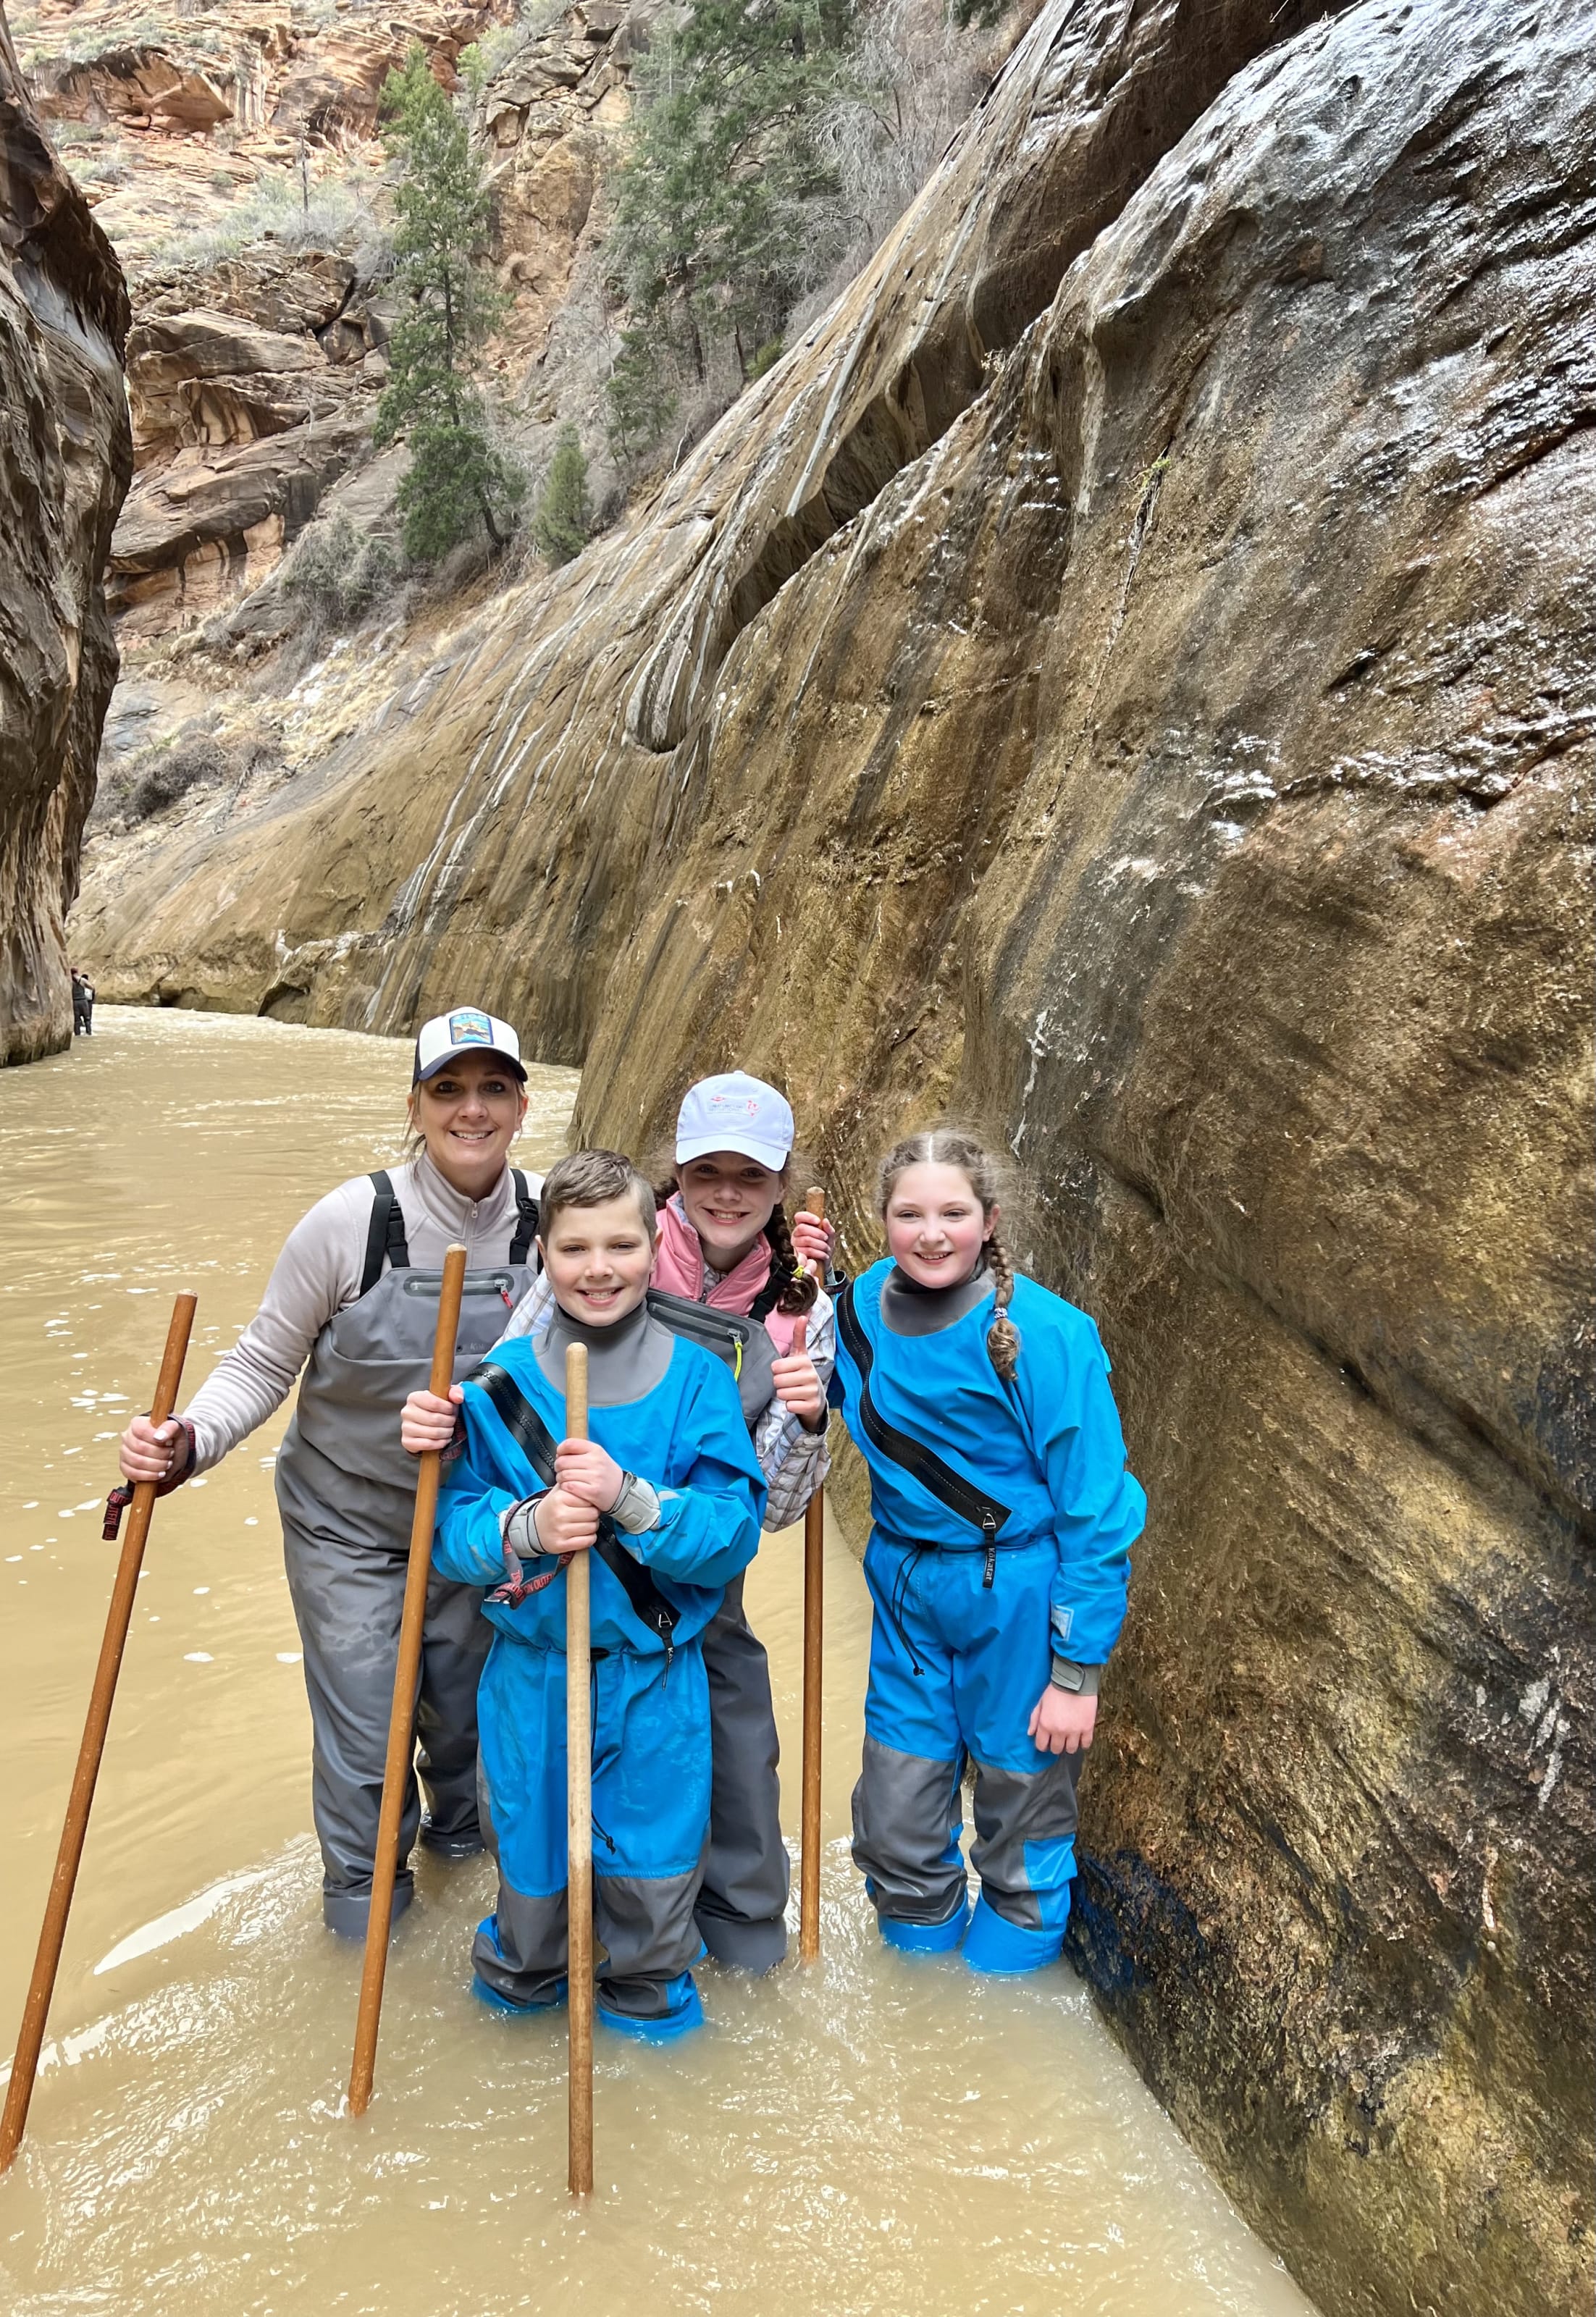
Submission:
M 313 1722 L 322 1916 L 361 1937 L 394 1696 L 415 1464 L 398 1443 L 405 1393 L 426 1381 L 445 1247 L 470 1251 L 456 1372 L 477 1365 L 533 1281 L 537 1177 L 510 1168 L 526 1070 L 507 1022 L 459 1006 L 422 1026 L 403 1165 L 357 1175 L 287 1237 L 259 1311 L 181 1418 L 137 1416 L 123 1474 L 176 1488 L 218 1464 L 306 1369 L 276 1467 L 283 1550 Z M 308 1367 L 306 1367 L 308 1362 Z M 415 1789 L 417 1837 L 445 1858 L 482 1849 L 477 1678 L 489 1650 L 479 1594 L 435 1578 L 426 1606 Z M 401 1870 L 394 1912 L 412 1898 Z

